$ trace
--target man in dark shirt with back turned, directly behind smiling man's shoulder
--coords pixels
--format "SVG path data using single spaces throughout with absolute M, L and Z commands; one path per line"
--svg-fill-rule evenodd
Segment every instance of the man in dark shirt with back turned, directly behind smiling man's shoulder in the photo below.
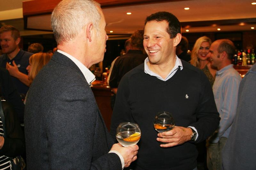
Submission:
M 143 33 L 143 30 L 135 31 L 131 36 L 129 51 L 116 59 L 109 79 L 109 85 L 115 94 L 121 78 L 128 71 L 143 63 L 147 57 L 143 54 Z

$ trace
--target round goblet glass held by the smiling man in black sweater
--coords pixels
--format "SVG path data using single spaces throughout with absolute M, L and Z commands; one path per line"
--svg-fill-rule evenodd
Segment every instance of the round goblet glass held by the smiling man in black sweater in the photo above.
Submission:
M 171 113 L 159 112 L 155 116 L 154 128 L 156 129 L 157 132 L 162 133 L 162 132 L 172 130 L 174 126 L 175 126 L 175 122 Z M 159 143 L 166 144 L 163 142 L 159 142 Z

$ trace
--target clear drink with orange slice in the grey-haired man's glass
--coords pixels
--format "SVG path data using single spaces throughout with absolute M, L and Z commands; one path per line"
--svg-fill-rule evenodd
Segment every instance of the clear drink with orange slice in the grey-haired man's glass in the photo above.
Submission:
M 132 146 L 139 142 L 140 132 L 135 132 L 135 131 L 117 132 L 116 139 L 124 147 Z

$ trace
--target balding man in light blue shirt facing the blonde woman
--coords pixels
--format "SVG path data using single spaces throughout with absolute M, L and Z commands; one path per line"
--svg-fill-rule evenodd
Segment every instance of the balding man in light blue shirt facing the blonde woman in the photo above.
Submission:
M 221 169 L 221 150 L 228 138 L 235 114 L 241 76 L 233 68 L 231 58 L 235 46 L 227 39 L 214 41 L 210 47 L 212 65 L 217 68 L 213 84 L 214 100 L 220 113 L 219 128 L 209 138 L 207 166 L 209 170 Z

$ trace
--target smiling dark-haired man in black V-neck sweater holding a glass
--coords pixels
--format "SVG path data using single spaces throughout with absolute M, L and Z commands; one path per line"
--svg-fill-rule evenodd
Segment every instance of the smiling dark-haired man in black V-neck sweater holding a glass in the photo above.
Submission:
M 140 151 L 134 170 L 195 169 L 194 143 L 205 140 L 219 125 L 205 74 L 175 54 L 180 28 L 179 20 L 169 12 L 148 16 L 143 41 L 148 57 L 125 74 L 118 86 L 110 130 L 115 138 L 121 122 L 140 126 Z M 172 113 L 176 126 L 157 133 L 153 119 L 163 111 Z

